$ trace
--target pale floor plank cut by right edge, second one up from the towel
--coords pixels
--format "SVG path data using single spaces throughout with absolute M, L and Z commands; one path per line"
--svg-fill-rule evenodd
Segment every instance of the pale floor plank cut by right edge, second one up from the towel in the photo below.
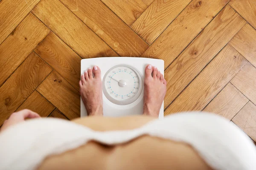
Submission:
M 251 102 L 256 104 L 256 68 L 250 62 L 230 82 Z

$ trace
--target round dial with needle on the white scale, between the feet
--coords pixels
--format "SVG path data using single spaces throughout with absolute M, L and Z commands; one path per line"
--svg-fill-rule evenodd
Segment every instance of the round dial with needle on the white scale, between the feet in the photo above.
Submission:
M 117 105 L 128 105 L 134 102 L 143 88 L 140 73 L 129 65 L 116 65 L 105 74 L 103 93 L 108 100 Z

